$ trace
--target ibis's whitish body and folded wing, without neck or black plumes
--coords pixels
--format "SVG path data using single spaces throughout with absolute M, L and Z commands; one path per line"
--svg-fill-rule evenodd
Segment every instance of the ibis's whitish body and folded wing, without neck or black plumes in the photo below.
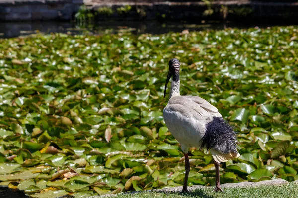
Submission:
M 200 140 L 213 117 L 221 117 L 217 108 L 196 97 L 171 97 L 163 110 L 163 118 L 170 132 L 187 148 L 201 146 Z

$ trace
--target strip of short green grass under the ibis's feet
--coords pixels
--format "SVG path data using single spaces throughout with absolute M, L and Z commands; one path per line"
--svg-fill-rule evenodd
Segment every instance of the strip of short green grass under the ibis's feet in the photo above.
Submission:
M 298 185 L 260 186 L 249 188 L 223 188 L 224 193 L 213 192 L 212 188 L 197 189 L 190 193 L 140 192 L 116 196 L 116 198 L 297 198 Z

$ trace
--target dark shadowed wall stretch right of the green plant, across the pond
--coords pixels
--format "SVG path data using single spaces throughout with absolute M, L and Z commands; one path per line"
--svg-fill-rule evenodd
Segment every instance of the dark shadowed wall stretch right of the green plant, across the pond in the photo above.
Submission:
M 102 3 L 101 1 L 105 1 Z M 171 0 L 159 2 L 106 2 L 90 0 L 86 4 L 96 13 L 97 20 L 106 19 L 178 19 L 178 20 L 295 20 L 298 21 L 298 1 L 280 0 L 218 0 L 209 5 L 201 0 Z M 120 0 L 122 1 L 122 0 Z M 140 0 L 136 0 L 140 1 Z M 120 7 L 131 6 L 128 13 L 119 13 Z M 112 14 L 101 13 L 109 7 Z M 212 10 L 212 12 L 207 12 Z M 142 14 L 143 13 L 143 14 Z

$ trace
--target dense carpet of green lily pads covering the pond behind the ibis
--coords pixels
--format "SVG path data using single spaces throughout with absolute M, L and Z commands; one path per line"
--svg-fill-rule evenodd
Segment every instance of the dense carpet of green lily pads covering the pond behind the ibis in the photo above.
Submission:
M 183 155 L 162 118 L 173 57 L 181 94 L 207 99 L 239 132 L 241 157 L 221 165 L 222 183 L 298 179 L 297 34 L 274 27 L 0 40 L 0 185 L 40 198 L 181 185 Z M 189 185 L 214 185 L 211 155 L 189 154 Z

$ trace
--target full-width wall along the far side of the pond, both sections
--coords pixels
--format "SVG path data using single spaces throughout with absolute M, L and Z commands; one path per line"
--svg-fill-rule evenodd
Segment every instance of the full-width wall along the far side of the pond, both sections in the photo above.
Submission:
M 0 0 L 0 21 L 71 20 L 85 4 L 95 20 L 295 20 L 297 0 Z M 129 12 L 119 8 L 130 6 Z M 98 11 L 108 7 L 112 13 Z M 223 9 L 224 8 L 224 9 Z M 206 14 L 212 9 L 212 14 Z

